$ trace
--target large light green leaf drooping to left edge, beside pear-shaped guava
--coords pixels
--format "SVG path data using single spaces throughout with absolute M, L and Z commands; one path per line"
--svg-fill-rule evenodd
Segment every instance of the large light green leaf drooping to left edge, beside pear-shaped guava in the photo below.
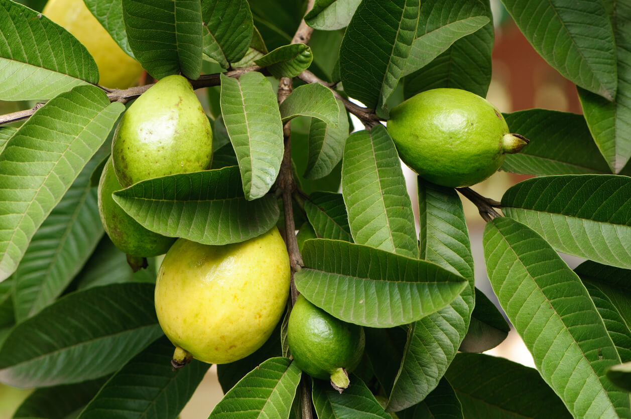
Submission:
M 0 280 L 15 271 L 37 228 L 124 109 L 95 86 L 77 86 L 38 109 L 7 141 L 0 155 L 6 185 L 0 189 Z

